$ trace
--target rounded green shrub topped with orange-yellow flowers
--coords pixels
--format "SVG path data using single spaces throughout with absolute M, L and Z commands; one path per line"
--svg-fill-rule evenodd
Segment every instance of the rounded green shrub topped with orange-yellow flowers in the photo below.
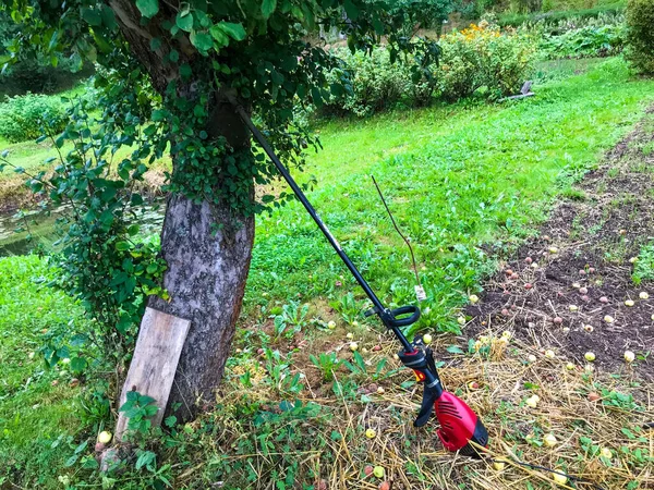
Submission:
M 497 26 L 485 21 L 443 36 L 439 44 L 443 53 L 434 74 L 446 100 L 477 90 L 488 99 L 518 93 L 535 52 L 531 36 L 514 30 L 500 34 Z

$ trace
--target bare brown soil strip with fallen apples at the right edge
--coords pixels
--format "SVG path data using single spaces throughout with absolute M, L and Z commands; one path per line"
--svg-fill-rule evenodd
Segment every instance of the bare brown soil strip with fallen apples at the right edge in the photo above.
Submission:
M 482 301 L 467 309 L 467 333 L 510 330 L 582 363 L 591 351 L 594 365 L 610 372 L 626 369 L 623 353 L 633 351 L 633 369 L 654 378 L 654 284 L 632 279 L 633 258 L 654 240 L 653 149 L 654 107 L 583 177 L 578 198 L 561 201 L 540 236 L 488 281 Z

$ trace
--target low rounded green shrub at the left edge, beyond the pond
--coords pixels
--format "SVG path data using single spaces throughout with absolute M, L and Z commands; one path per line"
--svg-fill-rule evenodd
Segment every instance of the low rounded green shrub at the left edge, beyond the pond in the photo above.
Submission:
M 10 143 L 36 139 L 45 120 L 51 133 L 65 127 L 68 118 L 59 97 L 27 94 L 7 98 L 0 103 L 0 137 Z

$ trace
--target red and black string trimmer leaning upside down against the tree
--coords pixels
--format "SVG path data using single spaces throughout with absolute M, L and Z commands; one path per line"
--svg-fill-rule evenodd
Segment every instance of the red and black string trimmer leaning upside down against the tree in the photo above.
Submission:
M 432 412 L 434 412 L 440 422 L 440 428 L 436 433 L 443 442 L 443 445 L 449 451 L 460 451 L 461 454 L 464 455 L 479 456 L 480 453 L 477 450 L 481 446 L 486 446 L 488 442 L 488 432 L 482 424 L 482 420 L 476 416 L 472 408 L 465 404 L 465 402 L 444 390 L 440 378 L 438 377 L 438 371 L 436 370 L 434 354 L 432 350 L 423 343 L 422 339 L 416 336 L 413 342 L 409 342 L 407 336 L 404 336 L 400 330 L 401 327 L 408 327 L 419 320 L 420 308 L 417 306 L 408 305 L 396 309 L 389 309 L 384 306 L 382 301 L 379 301 L 375 292 L 361 275 L 361 272 L 359 272 L 354 264 L 352 264 L 352 260 L 350 260 L 348 255 L 343 252 L 338 241 L 331 235 L 323 220 L 320 220 L 316 210 L 306 199 L 306 196 L 298 186 L 288 169 L 281 163 L 277 155 L 275 155 L 275 151 L 272 151 L 272 148 L 264 135 L 256 128 L 245 110 L 233 100 L 232 103 L 245 125 L 254 135 L 254 138 L 268 155 L 272 163 L 275 163 L 275 167 L 277 167 L 279 173 L 281 173 L 283 179 L 293 189 L 293 193 L 295 193 L 300 203 L 302 203 L 306 211 L 311 215 L 348 269 L 350 269 L 350 272 L 359 285 L 361 285 L 367 297 L 373 302 L 373 308 L 366 313 L 366 316 L 377 315 L 384 326 L 391 330 L 402 344 L 402 350 L 398 353 L 400 360 L 404 366 L 413 369 L 416 380 L 424 384 L 420 413 L 413 425 L 415 427 L 424 426 L 429 420 Z

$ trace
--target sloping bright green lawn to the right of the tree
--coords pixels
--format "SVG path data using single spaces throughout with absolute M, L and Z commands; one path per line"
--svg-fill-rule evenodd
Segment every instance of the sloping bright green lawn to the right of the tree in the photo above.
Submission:
M 654 82 L 630 77 L 615 59 L 535 90 L 520 102 L 463 102 L 320 127 L 310 198 L 374 289 L 391 305 L 411 303 L 409 253 L 375 175 L 425 268 L 429 313 L 419 328 L 457 328 L 452 308 L 479 289 L 497 254 L 533 233 L 554 199 L 573 193 L 573 179 L 597 164 L 653 99 Z M 266 303 L 264 291 L 287 302 L 338 297 L 353 286 L 299 205 L 259 218 L 246 308 Z

